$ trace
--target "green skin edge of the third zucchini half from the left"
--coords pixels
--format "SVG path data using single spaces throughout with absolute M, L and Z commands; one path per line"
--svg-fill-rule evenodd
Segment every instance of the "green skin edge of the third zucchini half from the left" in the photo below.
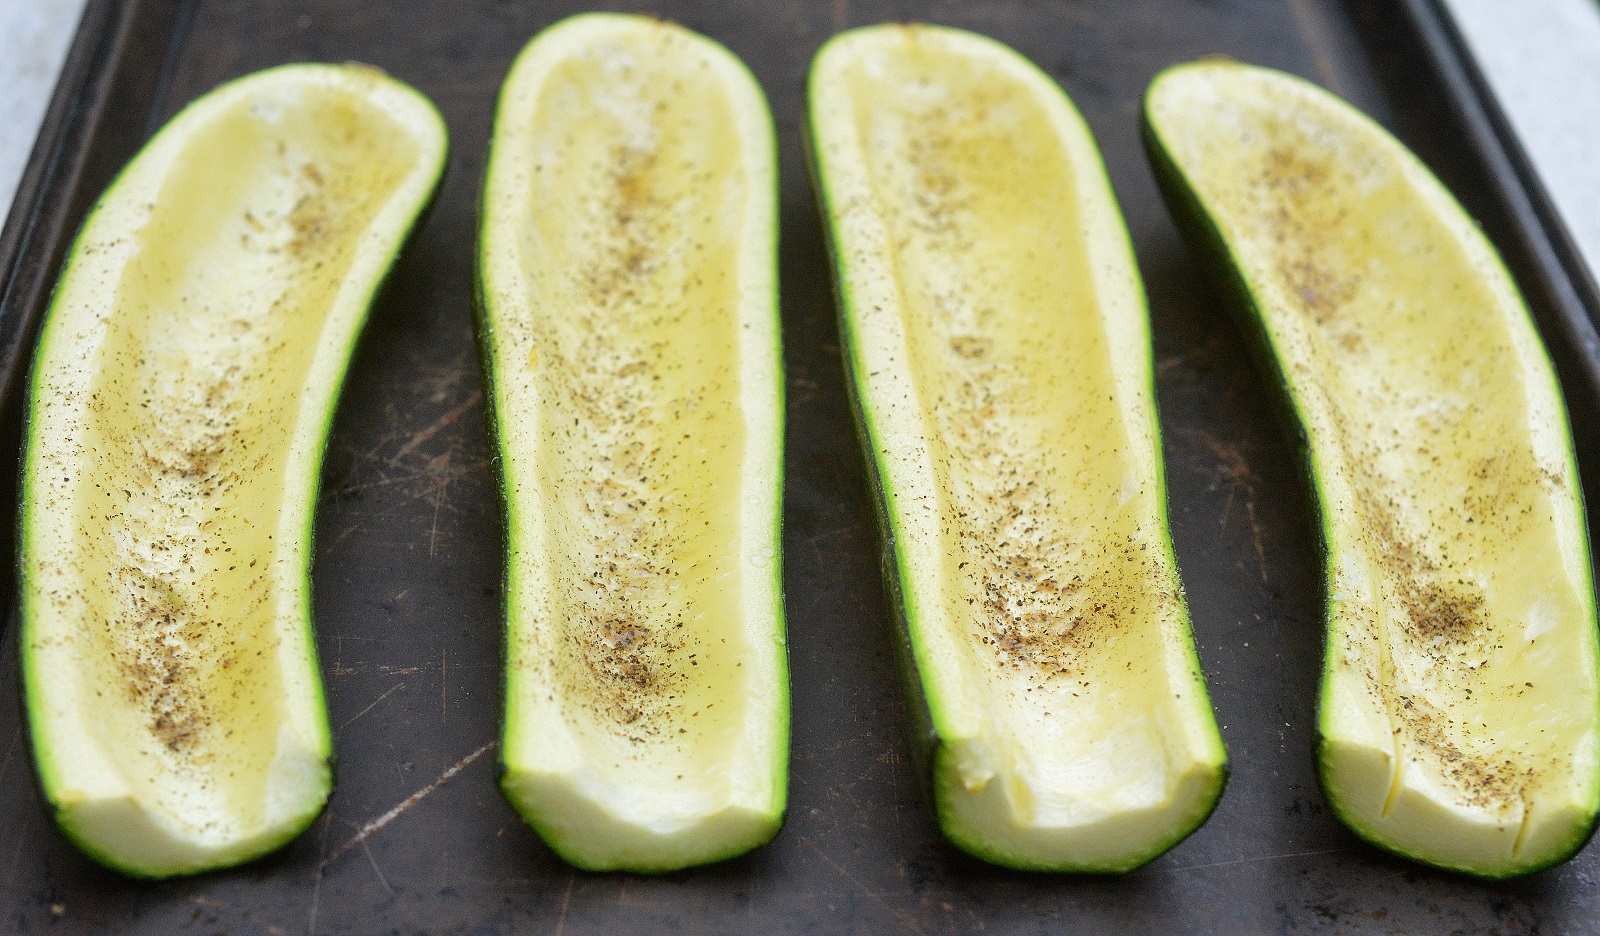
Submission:
M 883 29 L 883 27 L 861 27 L 858 30 L 840 34 L 832 40 L 829 40 L 829 43 L 824 43 L 822 50 L 818 51 L 816 58 L 813 59 L 813 66 L 808 77 L 808 107 L 806 107 L 806 120 L 802 125 L 802 131 L 805 136 L 803 152 L 806 157 L 806 170 L 811 178 L 811 186 L 818 198 L 818 208 L 822 216 L 822 235 L 829 258 L 832 261 L 830 266 L 834 272 L 834 296 L 835 296 L 835 309 L 840 328 L 840 346 L 843 352 L 842 357 L 845 362 L 845 376 L 846 376 L 845 389 L 848 395 L 848 403 L 856 435 L 866 461 L 866 477 L 872 491 L 874 514 L 877 517 L 880 546 L 882 546 L 880 563 L 885 584 L 885 597 L 888 600 L 894 626 L 894 646 L 896 646 L 898 662 L 901 667 L 899 674 L 902 678 L 906 712 L 910 722 L 912 752 L 915 755 L 915 763 L 920 771 L 920 781 L 930 798 L 930 803 L 934 808 L 934 814 L 939 819 L 944 835 L 950 840 L 952 845 L 958 846 L 968 854 L 973 854 L 974 858 L 979 858 L 982 861 L 1002 867 L 1011 867 L 1030 872 L 1125 874 L 1138 867 L 1142 867 L 1144 864 L 1165 854 L 1168 850 L 1171 850 L 1174 845 L 1178 845 L 1187 835 L 1190 835 L 1195 829 L 1203 826 L 1205 821 L 1214 813 L 1218 803 L 1221 802 L 1221 794 L 1226 786 L 1229 773 L 1226 754 L 1216 765 L 1214 786 L 1211 787 L 1208 797 L 1202 803 L 1202 810 L 1194 813 L 1189 818 L 1187 824 L 1182 829 L 1179 829 L 1170 840 L 1160 842 L 1142 853 L 1128 854 L 1118 861 L 1064 862 L 1059 858 L 1040 859 L 1029 854 L 1019 854 L 1006 848 L 997 846 L 995 842 L 989 840 L 981 832 L 974 834 L 974 830 L 962 829 L 957 824 L 947 821 L 947 816 L 954 813 L 954 808 L 949 805 L 949 802 L 952 802 L 952 798 L 957 795 L 955 787 L 960 786 L 960 782 L 954 779 L 957 776 L 955 750 L 952 749 L 950 742 L 941 734 L 941 730 L 938 726 L 939 718 L 936 717 L 936 704 L 930 699 L 928 686 L 925 682 L 928 677 L 920 670 L 918 666 L 917 629 L 914 621 L 915 614 L 912 610 L 912 603 L 907 600 L 907 581 L 910 576 L 906 566 L 907 547 L 901 542 L 901 538 L 898 536 L 894 526 L 894 518 L 893 518 L 894 517 L 893 501 L 896 499 L 894 490 L 888 477 L 888 469 L 877 456 L 882 442 L 875 437 L 877 434 L 874 430 L 874 418 L 867 405 L 864 403 L 862 384 L 867 379 L 869 365 L 862 357 L 862 339 L 856 334 L 856 325 L 853 322 L 856 315 L 856 301 L 853 299 L 850 290 L 851 270 L 846 262 L 845 253 L 840 250 L 838 245 L 838 229 L 834 221 L 835 218 L 838 218 L 838 213 L 837 206 L 832 202 L 834 192 L 829 186 L 827 165 L 821 152 L 818 139 L 819 134 L 816 130 L 818 122 L 821 120 L 819 94 L 816 91 L 816 85 L 819 82 L 818 62 L 821 62 L 822 54 L 827 51 L 830 45 L 848 38 L 851 34 L 869 32 L 875 29 Z M 928 32 L 936 32 L 936 34 L 963 32 L 949 27 L 931 27 L 923 24 L 909 24 L 907 29 L 926 29 Z M 965 34 L 965 35 L 973 35 L 973 34 Z M 1030 72 L 1042 77 L 1045 82 L 1050 82 L 1050 85 L 1056 88 L 1056 93 L 1061 94 L 1062 99 L 1066 99 L 1066 94 L 1059 90 L 1059 86 L 1054 85 L 1054 80 L 1050 78 L 1048 74 L 1040 70 L 1030 61 L 1027 61 L 1024 56 L 1018 54 L 1014 50 L 995 43 L 994 40 L 989 40 L 987 37 L 978 37 L 978 38 L 981 38 L 984 43 L 992 43 L 994 46 L 1005 50 L 1008 56 L 1013 56 L 1016 61 L 1024 62 L 1024 66 Z M 1072 110 L 1072 114 L 1077 115 L 1077 110 L 1072 106 L 1070 99 L 1066 99 L 1066 102 L 1067 107 Z M 1099 162 L 1101 158 L 1102 157 L 1098 152 L 1094 152 L 1096 165 L 1093 166 L 1093 170 L 1099 171 L 1104 176 L 1106 170 L 1104 163 Z M 1109 192 L 1109 184 L 1107 184 L 1107 192 Z M 1115 235 L 1120 238 L 1120 243 L 1125 245 L 1128 256 L 1131 258 L 1133 256 L 1131 243 L 1128 242 L 1126 227 L 1123 226 L 1120 216 L 1117 218 L 1117 224 L 1118 227 L 1115 230 Z M 1141 309 L 1144 309 L 1142 285 L 1138 283 L 1138 277 L 1134 277 L 1134 280 L 1136 280 L 1134 286 L 1139 291 Z M 1142 314 L 1147 315 L 1147 312 Z M 1149 334 L 1147 318 L 1144 320 L 1142 341 L 1146 354 L 1149 355 L 1150 334 Z M 1152 424 L 1155 424 L 1157 413 L 1155 413 L 1154 370 L 1146 368 L 1144 376 L 1150 394 L 1149 416 Z M 1165 480 L 1165 466 L 1162 461 L 1162 451 L 1158 445 L 1158 435 L 1155 446 L 1155 467 L 1157 470 L 1152 482 L 1155 490 L 1158 491 L 1157 499 L 1162 506 L 1160 522 L 1162 528 L 1165 530 L 1166 480 Z M 1173 563 L 1171 568 L 1176 570 L 1176 557 L 1173 555 L 1170 536 L 1166 536 L 1165 539 L 1165 550 L 1170 557 L 1170 562 Z M 1178 586 L 1178 589 L 1181 598 L 1182 595 L 1181 584 Z M 1192 670 L 1198 674 L 1200 666 L 1192 645 L 1192 635 L 1187 653 Z M 1203 694 L 1203 683 L 1200 685 L 1202 685 L 1200 691 Z M 1214 723 L 1211 725 L 1211 731 L 1216 731 Z M 1218 744 L 1221 742 L 1218 741 Z

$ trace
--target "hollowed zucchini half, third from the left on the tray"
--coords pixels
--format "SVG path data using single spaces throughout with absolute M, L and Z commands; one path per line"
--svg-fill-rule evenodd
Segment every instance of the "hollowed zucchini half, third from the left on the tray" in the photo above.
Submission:
M 1226 754 L 1088 126 L 1013 50 L 899 24 L 832 38 L 808 115 L 939 822 L 997 864 L 1138 867 Z

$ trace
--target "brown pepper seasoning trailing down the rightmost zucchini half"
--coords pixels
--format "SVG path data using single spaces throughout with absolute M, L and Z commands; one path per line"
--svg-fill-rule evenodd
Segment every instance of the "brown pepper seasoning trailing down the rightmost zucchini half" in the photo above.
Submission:
M 1267 133 L 1293 139 L 1298 131 L 1285 125 L 1267 128 Z M 1307 373 L 1357 373 L 1368 349 L 1358 326 L 1342 318 L 1362 278 L 1341 267 L 1338 245 L 1352 237 L 1352 221 L 1347 200 L 1328 194 L 1341 184 L 1338 173 L 1342 170 L 1320 152 L 1310 144 L 1267 150 L 1246 198 L 1253 198 L 1254 218 L 1275 242 L 1278 277 L 1298 299 L 1286 312 L 1302 317 L 1325 339 L 1318 346 L 1322 350 L 1312 349 L 1312 354 L 1326 354 L 1326 360 L 1306 365 Z M 1514 469 L 1507 456 L 1488 456 L 1464 466 L 1469 483 L 1459 506 L 1416 502 L 1411 485 L 1426 482 L 1390 477 L 1386 456 L 1403 451 L 1411 464 L 1416 458 L 1438 464 L 1458 448 L 1458 438 L 1470 437 L 1475 414 L 1424 413 L 1413 424 L 1390 426 L 1381 422 L 1390 390 L 1360 379 L 1352 386 L 1358 394 L 1355 402 L 1330 398 L 1334 442 L 1350 472 L 1357 514 L 1339 522 L 1360 530 L 1360 549 L 1381 576 L 1376 606 L 1347 606 L 1344 613 L 1350 627 L 1366 622 L 1382 659 L 1427 659 L 1429 680 L 1438 691 L 1397 688 L 1394 667 L 1387 664 L 1366 667 L 1363 677 L 1370 691 L 1382 699 L 1402 747 L 1434 762 L 1462 802 L 1474 806 L 1512 803 L 1525 797 L 1538 776 L 1536 768 L 1518 763 L 1515 752 L 1467 750 L 1464 744 L 1475 726 L 1458 718 L 1453 714 L 1456 702 L 1448 701 L 1470 701 L 1474 690 L 1490 691 L 1486 686 L 1493 680 L 1485 678 L 1485 672 L 1493 666 L 1499 637 L 1486 618 L 1483 590 L 1461 565 L 1472 550 L 1470 541 L 1466 534 L 1442 534 L 1440 525 L 1469 523 L 1474 525 L 1469 530 L 1480 534 L 1509 536 L 1528 509 L 1526 491 L 1533 478 Z M 1402 520 L 1429 523 L 1427 510 L 1450 510 L 1450 517 L 1437 515 L 1432 530 L 1414 530 Z

